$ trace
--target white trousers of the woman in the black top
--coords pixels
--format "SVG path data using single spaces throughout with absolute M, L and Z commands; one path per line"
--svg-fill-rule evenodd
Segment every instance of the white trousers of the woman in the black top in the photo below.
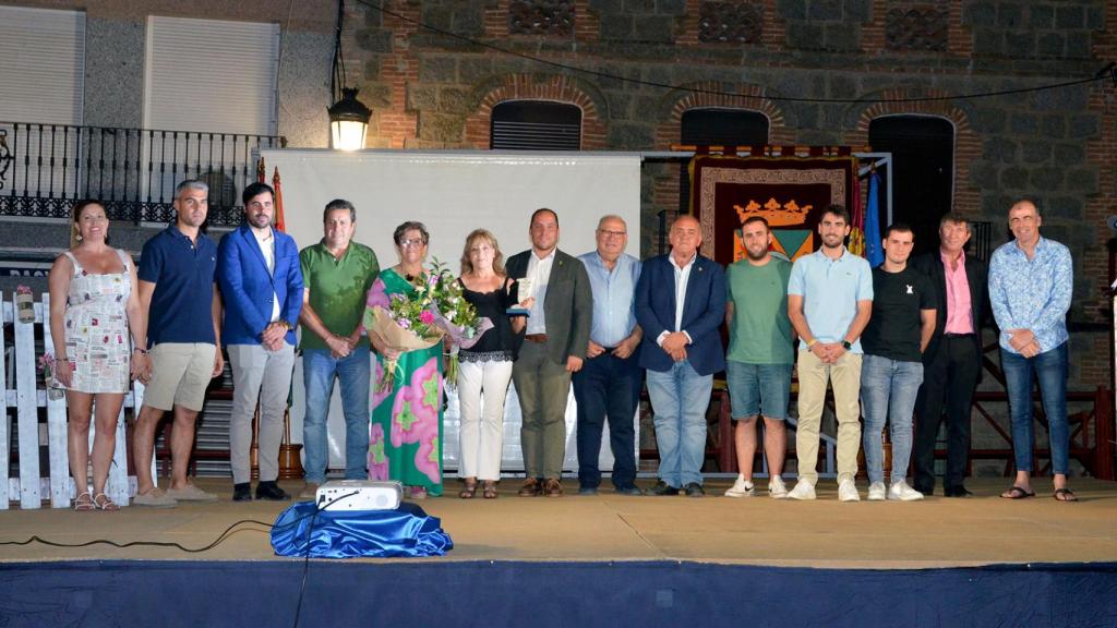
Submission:
M 461 408 L 459 477 L 500 479 L 504 400 L 512 381 L 512 362 L 461 362 L 458 403 Z

